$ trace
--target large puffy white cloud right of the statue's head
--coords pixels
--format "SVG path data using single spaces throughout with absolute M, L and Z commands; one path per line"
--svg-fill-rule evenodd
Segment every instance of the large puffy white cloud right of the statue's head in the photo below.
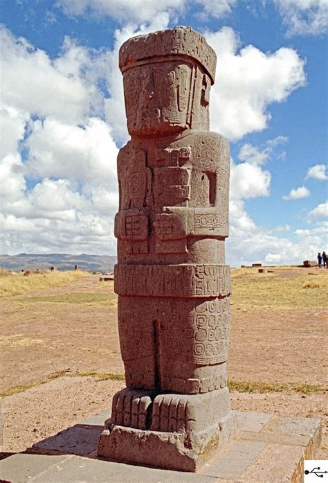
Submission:
M 271 119 L 268 106 L 284 102 L 305 85 L 304 60 L 286 47 L 273 53 L 253 45 L 240 49 L 239 37 L 230 27 L 205 35 L 217 52 L 210 102 L 212 129 L 233 141 L 264 130 Z

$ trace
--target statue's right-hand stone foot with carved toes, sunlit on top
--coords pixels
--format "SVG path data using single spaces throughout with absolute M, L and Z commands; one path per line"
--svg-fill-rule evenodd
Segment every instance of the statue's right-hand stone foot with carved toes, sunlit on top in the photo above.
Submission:
M 158 394 L 152 409 L 152 431 L 179 432 L 185 429 L 188 398 L 181 394 Z

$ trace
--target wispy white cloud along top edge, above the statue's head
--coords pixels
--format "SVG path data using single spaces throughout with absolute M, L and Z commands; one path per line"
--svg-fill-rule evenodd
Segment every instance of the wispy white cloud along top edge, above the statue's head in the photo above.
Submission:
M 91 14 L 111 17 L 125 24 L 129 21 L 142 24 L 163 15 L 167 21 L 177 20 L 185 0 L 57 0 L 57 5 L 68 15 Z

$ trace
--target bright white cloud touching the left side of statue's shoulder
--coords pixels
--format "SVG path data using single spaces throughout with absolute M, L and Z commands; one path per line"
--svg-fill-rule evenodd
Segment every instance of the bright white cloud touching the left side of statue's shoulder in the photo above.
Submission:
M 89 118 L 80 127 L 46 118 L 30 123 L 30 130 L 26 141 L 30 176 L 75 179 L 116 190 L 118 148 L 107 123 Z

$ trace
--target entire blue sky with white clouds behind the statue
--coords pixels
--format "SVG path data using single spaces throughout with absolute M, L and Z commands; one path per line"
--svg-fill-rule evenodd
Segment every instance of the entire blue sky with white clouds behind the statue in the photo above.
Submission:
M 2 0 L 1 252 L 115 254 L 120 44 L 175 25 L 217 51 L 231 265 L 327 245 L 328 0 Z

